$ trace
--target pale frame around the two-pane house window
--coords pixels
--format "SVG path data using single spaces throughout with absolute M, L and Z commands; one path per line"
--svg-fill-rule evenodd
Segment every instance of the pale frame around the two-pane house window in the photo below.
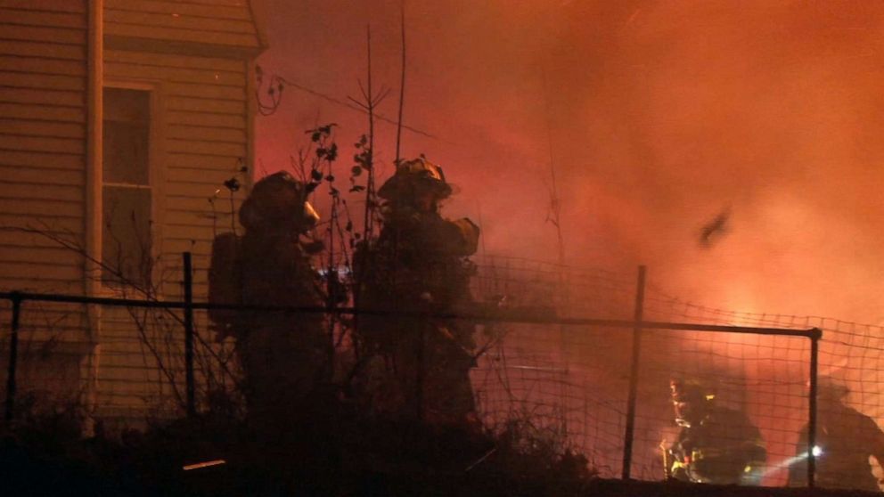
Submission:
M 162 165 L 165 164 L 165 136 L 163 134 L 163 123 L 165 123 L 165 111 L 163 105 L 164 88 L 160 81 L 156 80 L 126 80 L 107 78 L 102 82 L 100 91 L 104 94 L 105 88 L 119 88 L 125 90 L 138 90 L 147 92 L 148 94 L 148 110 L 150 117 L 148 121 L 148 146 L 147 146 L 147 184 L 135 186 L 127 183 L 114 183 L 104 181 L 104 152 L 101 143 L 103 143 L 103 126 L 104 126 L 104 98 L 102 96 L 102 106 L 99 109 L 99 120 L 102 123 L 102 131 L 99 138 L 99 146 L 96 153 L 101 157 L 97 160 L 94 167 L 94 195 L 96 196 L 94 209 L 93 232 L 94 237 L 94 258 L 99 263 L 98 271 L 93 277 L 96 280 L 96 289 L 102 294 L 112 297 L 125 296 L 131 293 L 134 288 L 131 285 L 116 284 L 104 281 L 102 279 L 102 266 L 104 264 L 103 254 L 103 233 L 104 233 L 104 186 L 127 186 L 138 189 L 146 189 L 151 191 L 151 254 L 153 260 L 157 260 L 160 256 L 162 247 L 162 227 L 164 225 L 165 215 L 165 194 L 162 185 L 165 183 L 165 171 Z M 160 281 L 162 268 L 160 264 L 154 265 L 151 271 L 151 289 L 156 292 L 159 297 L 162 294 L 164 285 Z

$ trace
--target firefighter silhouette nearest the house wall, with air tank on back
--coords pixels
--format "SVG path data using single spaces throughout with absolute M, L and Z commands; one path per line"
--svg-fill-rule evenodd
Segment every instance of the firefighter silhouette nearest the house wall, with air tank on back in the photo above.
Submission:
M 302 237 L 318 216 L 303 183 L 281 171 L 255 183 L 239 211 L 245 234 L 213 243 L 209 301 L 245 306 L 323 306 Z M 283 422 L 316 387 L 327 357 L 321 314 L 216 310 L 222 337 L 236 338 L 250 419 Z

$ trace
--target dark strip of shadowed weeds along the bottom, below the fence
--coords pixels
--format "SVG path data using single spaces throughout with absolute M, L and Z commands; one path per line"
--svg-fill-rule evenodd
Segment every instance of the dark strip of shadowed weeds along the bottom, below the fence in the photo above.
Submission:
M 0 444 L 4 495 L 577 495 L 593 477 L 582 456 L 512 433 L 370 418 L 331 393 L 298 407 L 269 429 L 226 415 L 86 439 L 67 421 L 20 425 Z M 207 460 L 225 464 L 184 470 Z

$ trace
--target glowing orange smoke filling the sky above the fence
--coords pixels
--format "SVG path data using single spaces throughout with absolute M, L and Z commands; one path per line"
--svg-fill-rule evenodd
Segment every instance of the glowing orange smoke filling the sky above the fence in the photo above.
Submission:
M 254 3 L 266 71 L 340 100 L 365 82 L 371 24 L 396 116 L 398 2 Z M 480 217 L 489 252 L 556 254 L 552 157 L 571 265 L 647 264 L 709 306 L 880 320 L 884 4 L 409 0 L 405 20 L 405 123 L 435 138 L 405 132 L 404 155 L 445 167 L 446 214 Z M 326 122 L 345 149 L 367 128 L 287 89 L 257 121 L 266 172 Z M 395 128 L 378 141 L 389 174 Z

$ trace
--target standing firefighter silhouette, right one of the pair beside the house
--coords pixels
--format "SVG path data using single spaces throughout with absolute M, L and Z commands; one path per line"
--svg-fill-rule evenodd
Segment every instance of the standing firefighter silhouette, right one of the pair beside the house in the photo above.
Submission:
M 372 407 L 430 422 L 468 420 L 475 406 L 469 373 L 475 325 L 439 314 L 472 304 L 466 259 L 479 227 L 448 220 L 439 202 L 452 193 L 442 169 L 429 160 L 402 162 L 381 185 L 383 226 L 354 256 L 361 308 L 358 340 L 375 387 Z M 437 317 L 433 317 L 437 316 Z

